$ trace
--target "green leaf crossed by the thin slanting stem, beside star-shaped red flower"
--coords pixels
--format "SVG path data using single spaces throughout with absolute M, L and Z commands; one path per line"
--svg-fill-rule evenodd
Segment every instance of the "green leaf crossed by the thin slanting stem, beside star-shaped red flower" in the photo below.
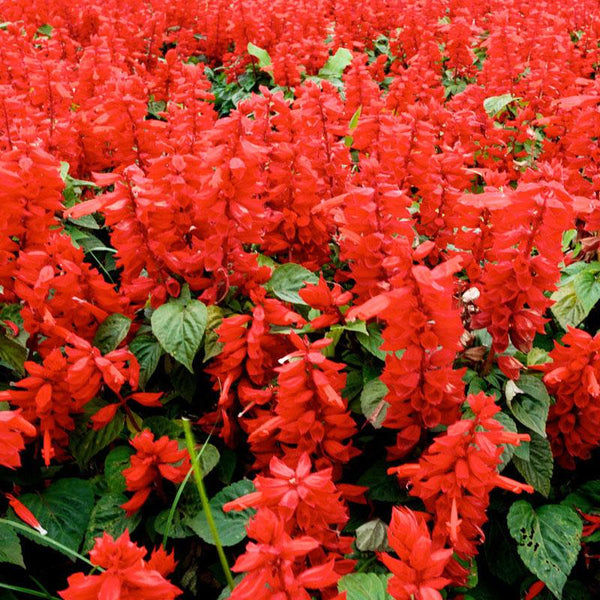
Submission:
M 242 479 L 223 488 L 211 499 L 211 512 L 223 546 L 235 546 L 246 537 L 246 524 L 255 512 L 252 509 L 246 509 L 242 511 L 232 510 L 226 513 L 223 512 L 223 505 L 252 491 L 254 491 L 252 482 L 248 479 Z M 204 511 L 201 510 L 195 516 L 186 519 L 185 524 L 191 527 L 196 535 L 200 536 L 205 542 L 215 543 Z

